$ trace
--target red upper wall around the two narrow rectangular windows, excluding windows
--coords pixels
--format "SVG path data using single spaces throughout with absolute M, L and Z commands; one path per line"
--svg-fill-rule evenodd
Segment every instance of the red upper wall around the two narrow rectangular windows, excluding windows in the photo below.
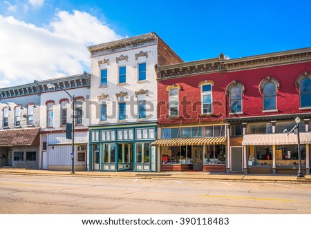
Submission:
M 204 74 L 196 76 L 168 79 L 158 83 L 158 120 L 160 124 L 173 123 L 196 123 L 207 121 L 225 121 L 225 84 L 223 74 Z M 201 81 L 214 81 L 212 87 L 212 98 L 214 101 L 213 115 L 201 115 L 201 93 L 198 86 Z M 169 118 L 168 103 L 169 92 L 167 86 L 172 84 L 180 85 L 179 90 L 179 118 Z

